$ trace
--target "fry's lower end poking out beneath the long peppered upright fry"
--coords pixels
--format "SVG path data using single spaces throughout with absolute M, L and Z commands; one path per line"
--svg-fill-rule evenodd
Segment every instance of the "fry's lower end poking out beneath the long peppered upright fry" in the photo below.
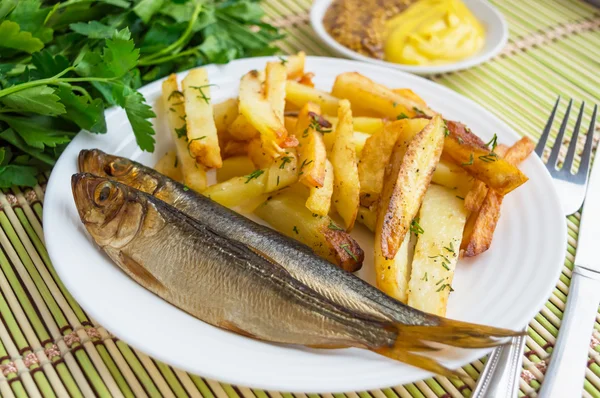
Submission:
M 410 264 L 412 253 L 410 250 L 410 234 L 406 234 L 400 245 L 398 253 L 387 259 L 381 253 L 381 234 L 375 234 L 375 274 L 377 275 L 377 288 L 396 300 L 406 304 L 408 301 L 408 281 L 410 278 Z

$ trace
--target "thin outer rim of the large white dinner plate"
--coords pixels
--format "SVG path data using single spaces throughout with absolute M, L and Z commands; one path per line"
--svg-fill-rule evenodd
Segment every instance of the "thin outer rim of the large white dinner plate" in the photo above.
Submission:
M 323 62 L 333 62 L 336 64 L 343 64 L 346 66 L 355 66 L 357 68 L 367 68 L 370 69 L 369 72 L 377 72 L 377 71 L 381 71 L 381 72 L 385 72 L 388 74 L 392 74 L 395 75 L 392 78 L 396 79 L 396 80 L 400 80 L 403 76 L 405 77 L 409 77 L 410 79 L 418 79 L 422 84 L 424 85 L 429 85 L 430 87 L 435 88 L 436 90 L 441 90 L 442 92 L 447 92 L 447 93 L 452 93 L 452 95 L 454 96 L 459 96 L 463 101 L 465 101 L 466 103 L 468 103 L 468 106 L 470 107 L 470 109 L 473 109 L 476 112 L 482 113 L 484 115 L 485 118 L 491 118 L 494 120 L 495 123 L 499 124 L 502 126 L 503 130 L 506 131 L 506 133 L 510 134 L 510 136 L 513 139 L 518 139 L 520 136 L 510 127 L 508 126 L 504 121 L 502 121 L 499 117 L 495 116 L 493 113 L 491 113 L 490 111 L 486 110 L 484 107 L 482 107 L 481 105 L 477 104 L 476 102 L 474 102 L 473 100 L 463 96 L 462 94 L 451 90 L 448 87 L 445 87 L 439 83 L 435 83 L 432 82 L 430 80 L 427 80 L 423 77 L 419 77 L 419 76 L 415 76 L 415 75 L 411 75 L 407 72 L 403 72 L 397 69 L 390 69 L 390 68 L 386 68 L 386 67 L 382 67 L 379 65 L 374 65 L 372 63 L 364 63 L 364 62 L 359 62 L 359 61 L 354 61 L 354 60 L 346 60 L 346 59 L 338 59 L 338 58 L 332 58 L 332 57 L 314 57 L 314 56 L 310 56 L 307 57 L 308 59 L 313 59 L 315 62 L 317 61 L 323 61 Z M 205 67 L 208 67 L 210 69 L 215 69 L 216 68 L 216 72 L 219 73 L 219 69 L 221 67 L 228 67 L 229 65 L 232 65 L 236 63 L 238 64 L 243 64 L 243 63 L 261 63 L 264 64 L 264 62 L 266 61 L 271 61 L 271 60 L 276 60 L 275 57 L 256 57 L 256 58 L 246 58 L 246 59 L 240 59 L 240 60 L 236 60 L 236 61 L 232 61 L 231 63 L 222 66 L 222 65 L 207 65 Z M 178 76 L 184 76 L 185 74 L 187 74 L 188 71 L 183 71 L 178 73 Z M 209 72 L 210 73 L 210 72 Z M 153 87 L 155 85 L 160 85 L 162 83 L 163 79 L 159 79 L 155 82 L 152 82 L 146 86 L 144 86 L 144 88 L 147 88 L 148 90 L 153 89 Z M 143 88 L 142 88 L 143 89 Z M 107 118 L 112 115 L 112 113 L 114 112 L 118 112 L 120 111 L 120 109 L 118 108 L 111 108 L 108 109 L 106 111 L 106 116 Z M 77 147 L 77 142 L 79 141 L 78 137 L 80 137 L 81 134 L 88 134 L 86 132 L 81 132 L 80 134 L 78 134 L 78 136 L 69 144 L 69 147 Z M 508 138 L 508 137 L 507 137 Z M 65 149 L 64 153 L 68 153 L 69 152 L 69 148 L 67 147 L 67 149 Z M 541 170 L 542 170 L 542 174 L 545 176 L 545 178 L 549 179 L 548 181 L 552 184 L 552 180 L 551 177 L 548 173 L 548 171 L 546 170 L 545 166 L 543 165 L 542 161 L 537 157 L 532 157 L 532 159 L 534 159 L 533 161 L 536 163 L 539 163 L 538 166 L 542 166 Z M 55 169 L 58 168 L 59 165 L 63 165 L 64 163 L 70 162 L 72 161 L 69 159 L 59 159 L 59 161 L 57 161 Z M 58 173 L 52 173 L 50 175 L 50 179 L 48 181 L 48 185 L 47 185 L 47 189 L 46 189 L 46 197 L 44 202 L 47 204 L 48 203 L 48 199 L 52 198 L 53 196 L 53 192 L 58 189 L 57 187 L 59 186 L 59 182 L 57 182 L 57 175 Z M 553 201 L 553 207 L 560 209 L 560 202 L 558 199 L 558 194 L 556 192 L 556 190 L 554 189 L 554 185 L 552 184 L 552 192 L 550 194 L 548 194 L 547 198 L 551 201 Z M 51 206 L 46 206 L 44 205 L 44 212 L 43 212 L 43 222 L 44 225 L 48 228 L 48 230 L 52 229 L 52 227 L 49 227 L 49 225 L 52 225 L 52 215 L 50 214 L 50 207 Z M 562 210 L 560 211 L 560 218 L 561 220 L 564 220 L 564 217 L 562 215 Z M 563 236 L 562 239 L 562 247 L 561 247 L 561 253 L 565 253 L 566 252 L 566 247 L 567 247 L 567 230 L 566 230 L 566 222 L 560 222 L 558 223 L 558 225 L 560 226 L 560 233 Z M 46 239 L 46 244 L 47 244 L 47 250 L 48 250 L 48 254 L 50 256 L 50 259 L 52 260 L 53 264 L 58 264 L 58 262 L 56 261 L 59 256 L 56 253 L 56 250 L 58 249 L 58 246 L 53 244 L 53 242 L 58 238 L 58 235 L 60 234 L 45 234 L 45 239 Z M 554 273 L 554 278 L 553 280 L 556 281 L 558 280 L 558 276 L 560 275 L 561 271 L 562 271 L 562 265 L 564 263 L 564 260 L 562 257 L 557 259 L 557 265 L 556 265 L 556 270 Z M 82 299 L 82 297 L 80 297 L 79 295 L 79 290 L 77 289 L 77 287 L 74 285 L 72 285 L 72 283 L 74 283 L 75 281 L 71 281 L 68 277 L 65 278 L 63 275 L 63 270 L 61 269 L 60 266 L 55 266 L 57 273 L 59 274 L 59 276 L 61 277 L 61 280 L 63 281 L 64 285 L 67 287 L 67 289 L 70 292 L 73 292 L 73 296 L 76 298 L 77 302 L 82 306 L 85 307 L 85 311 L 87 313 L 89 313 L 90 315 L 92 315 L 92 318 L 96 319 L 99 321 L 100 325 L 109 325 L 111 324 L 110 321 L 103 321 L 106 319 L 106 317 L 102 314 L 98 314 L 94 309 L 89 308 L 89 306 L 87 305 L 82 305 L 81 303 L 85 301 L 85 299 Z M 550 297 L 552 290 L 555 287 L 555 283 L 552 286 L 548 286 L 546 289 L 546 292 L 544 294 L 543 297 L 541 297 L 537 300 L 538 305 L 535 306 L 534 309 L 530 310 L 529 312 L 531 312 L 531 316 L 529 317 L 529 320 L 526 321 L 526 323 L 530 322 L 531 319 L 533 319 L 533 317 L 535 316 L 535 314 L 537 314 L 539 312 L 539 310 L 543 307 L 543 305 L 546 303 L 546 301 L 548 300 L 548 298 Z M 77 293 L 74 293 L 77 292 Z M 81 296 L 84 296 L 83 294 Z M 525 324 L 522 325 L 518 325 L 519 327 L 524 327 Z M 116 330 L 115 330 L 116 332 Z M 113 333 L 115 333 L 113 332 Z M 115 333 L 115 335 L 119 335 L 118 332 Z M 127 344 L 131 345 L 132 347 L 139 349 L 140 351 L 147 353 L 148 355 L 150 355 L 153 358 L 159 359 L 165 363 L 170 363 L 173 364 L 174 366 L 184 369 L 186 371 L 190 371 L 191 373 L 197 373 L 196 369 L 192 369 L 190 366 L 186 365 L 186 363 L 181 363 L 180 361 L 174 360 L 171 357 L 165 356 L 161 353 L 160 350 L 155 350 L 152 346 L 148 347 L 148 346 L 139 346 L 137 344 L 137 342 L 135 341 L 130 341 L 129 339 L 125 339 L 124 341 L 127 342 Z M 472 350 L 470 352 L 470 355 L 465 355 L 464 359 L 461 359 L 461 363 L 467 364 L 472 362 L 475 359 L 480 358 L 481 356 L 485 355 L 486 352 L 491 351 L 490 349 L 483 349 L 483 350 Z M 457 365 L 457 366 L 463 366 L 463 365 Z M 244 377 L 239 377 L 238 375 L 223 375 L 223 374 L 215 374 L 213 373 L 210 369 L 203 369 L 202 370 L 202 377 L 207 377 L 207 378 L 211 378 L 211 379 L 218 379 L 220 382 L 225 382 L 225 383 L 230 383 L 230 384 L 238 384 L 238 385 L 243 385 L 243 386 L 247 386 L 250 388 L 260 388 L 260 389 L 265 389 L 265 390 L 278 390 L 278 391 L 290 391 L 290 392 L 305 392 L 305 393 L 322 393 L 322 392 L 332 392 L 332 391 L 339 391 L 339 392 L 345 392 L 345 391 L 358 391 L 358 390 L 368 390 L 368 389 L 375 389 L 375 388 L 384 388 L 384 387 L 389 387 L 389 382 L 381 382 L 381 381 L 373 381 L 370 384 L 367 384 L 365 382 L 360 382 L 358 379 L 349 379 L 347 380 L 347 382 L 345 384 L 348 384 L 349 387 L 344 387 L 344 386 L 340 386 L 339 388 L 323 388 L 323 387 L 319 387 L 319 386 L 305 386 L 305 385 L 282 385 L 282 384 L 277 384 L 277 382 L 271 383 L 271 384 L 265 384 L 265 383 L 255 383 L 253 382 L 253 380 L 248 380 Z M 430 373 L 427 373 L 424 377 L 429 377 L 431 376 Z M 241 381 L 243 380 L 243 381 Z M 354 380 L 354 381 L 352 381 Z M 297 382 L 296 382 L 297 383 Z M 393 384 L 393 383 L 392 383 Z

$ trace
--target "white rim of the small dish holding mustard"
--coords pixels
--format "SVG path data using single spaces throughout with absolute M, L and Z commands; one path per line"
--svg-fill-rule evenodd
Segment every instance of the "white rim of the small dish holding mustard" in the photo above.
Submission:
M 342 55 L 346 58 L 353 59 L 356 61 L 363 61 L 367 63 L 371 63 L 379 66 L 387 66 L 389 68 L 401 70 L 403 72 L 418 74 L 418 75 L 434 75 L 438 73 L 447 73 L 447 72 L 456 72 L 463 69 L 472 68 L 474 66 L 485 63 L 498 55 L 502 49 L 508 43 L 509 32 L 508 32 L 508 23 L 506 22 L 506 18 L 504 15 L 494 7 L 490 2 L 484 0 L 471 0 L 477 1 L 482 6 L 487 7 L 488 10 L 494 15 L 494 17 L 500 23 L 500 28 L 502 31 L 502 36 L 500 41 L 496 43 L 494 47 L 490 50 L 477 54 L 475 56 L 469 57 L 464 60 L 460 60 L 457 62 L 442 64 L 442 65 L 431 65 L 431 66 L 412 66 L 412 65 L 404 65 L 404 64 L 396 64 L 393 62 L 387 62 L 379 59 L 374 59 L 367 57 L 365 55 L 359 54 L 354 50 L 351 50 L 342 44 L 338 43 L 325 29 L 323 25 L 323 16 L 325 15 L 325 11 L 329 7 L 329 5 L 333 2 L 333 0 L 314 0 L 311 8 L 310 8 L 310 24 L 317 34 L 317 37 L 326 44 L 330 49 Z

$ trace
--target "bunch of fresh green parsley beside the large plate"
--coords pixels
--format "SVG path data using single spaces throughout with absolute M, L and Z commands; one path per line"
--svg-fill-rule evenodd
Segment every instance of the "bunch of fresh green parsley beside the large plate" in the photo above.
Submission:
M 200 65 L 277 53 L 281 34 L 263 14 L 247 0 L 0 2 L 0 187 L 35 185 L 80 130 L 107 132 L 104 111 L 113 106 L 152 152 L 155 114 L 138 89 Z M 181 105 L 183 93 L 169 100 Z

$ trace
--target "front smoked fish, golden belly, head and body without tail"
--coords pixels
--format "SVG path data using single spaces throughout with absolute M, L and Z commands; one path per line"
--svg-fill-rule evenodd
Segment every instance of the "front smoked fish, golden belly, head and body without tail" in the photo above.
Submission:
M 89 174 L 74 175 L 72 189 L 102 250 L 136 282 L 204 322 L 286 344 L 378 349 L 398 338 L 391 323 L 332 303 L 278 264 L 151 195 Z

